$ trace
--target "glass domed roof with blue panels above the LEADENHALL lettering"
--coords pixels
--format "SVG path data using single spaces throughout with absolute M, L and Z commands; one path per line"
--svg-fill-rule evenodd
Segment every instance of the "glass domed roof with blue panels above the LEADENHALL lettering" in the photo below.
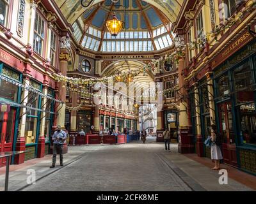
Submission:
M 86 11 L 72 25 L 74 36 L 82 47 L 99 52 L 152 52 L 173 45 L 171 22 L 151 4 L 141 0 L 111 0 Z M 124 20 L 125 28 L 113 37 L 105 26 L 113 12 Z

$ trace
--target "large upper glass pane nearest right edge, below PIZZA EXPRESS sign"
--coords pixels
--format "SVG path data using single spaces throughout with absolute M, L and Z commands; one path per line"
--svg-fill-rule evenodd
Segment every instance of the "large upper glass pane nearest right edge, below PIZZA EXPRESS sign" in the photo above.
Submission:
M 234 85 L 237 104 L 254 101 L 253 77 L 249 61 L 234 70 Z

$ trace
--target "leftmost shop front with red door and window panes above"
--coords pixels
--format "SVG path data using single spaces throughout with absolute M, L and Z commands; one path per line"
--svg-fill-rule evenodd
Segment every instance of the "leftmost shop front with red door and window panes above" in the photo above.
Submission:
M 20 110 L 18 105 L 20 103 L 21 91 L 17 85 L 21 84 L 22 78 L 19 72 L 1 62 L 0 76 L 0 152 L 6 152 L 15 149 Z M 5 165 L 5 163 L 5 159 L 0 160 L 0 166 Z

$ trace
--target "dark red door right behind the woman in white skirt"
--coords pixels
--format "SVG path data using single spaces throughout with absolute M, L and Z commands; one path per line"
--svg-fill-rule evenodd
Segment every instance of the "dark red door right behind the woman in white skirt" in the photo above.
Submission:
M 223 136 L 222 152 L 224 162 L 237 167 L 236 143 L 232 120 L 231 103 L 221 103 L 218 107 L 220 113 L 220 132 Z

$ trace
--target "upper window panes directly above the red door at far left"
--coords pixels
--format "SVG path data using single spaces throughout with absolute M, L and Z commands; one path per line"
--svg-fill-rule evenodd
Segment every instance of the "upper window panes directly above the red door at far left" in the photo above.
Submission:
M 20 83 L 20 75 L 11 69 L 3 67 L 1 75 L 11 78 L 13 81 Z M 18 86 L 4 80 L 0 80 L 0 98 L 17 102 Z

